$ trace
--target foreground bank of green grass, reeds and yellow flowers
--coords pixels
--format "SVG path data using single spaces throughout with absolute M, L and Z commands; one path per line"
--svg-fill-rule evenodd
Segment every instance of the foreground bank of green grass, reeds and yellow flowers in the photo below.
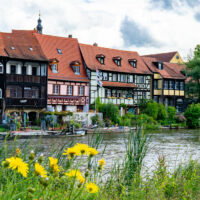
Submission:
M 38 147 L 30 151 L 30 144 L 17 147 L 17 141 L 10 149 L 5 140 L 0 147 L 0 199 L 200 199 L 197 161 L 170 173 L 161 156 L 156 170 L 141 176 L 150 138 L 141 130 L 124 137 L 123 161 L 106 170 L 106 148 L 98 150 L 103 140 L 100 134 L 93 135 L 88 144 L 72 142 L 45 155 Z

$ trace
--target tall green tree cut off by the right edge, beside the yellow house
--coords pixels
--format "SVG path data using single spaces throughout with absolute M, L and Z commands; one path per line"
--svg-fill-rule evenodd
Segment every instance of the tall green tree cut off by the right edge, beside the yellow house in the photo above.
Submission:
M 194 50 L 194 57 L 186 63 L 186 93 L 189 98 L 200 102 L 200 45 Z

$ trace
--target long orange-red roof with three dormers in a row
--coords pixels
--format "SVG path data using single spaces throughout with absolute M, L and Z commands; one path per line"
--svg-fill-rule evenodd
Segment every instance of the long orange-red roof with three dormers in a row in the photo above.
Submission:
M 87 44 L 80 44 L 80 49 L 83 59 L 90 70 L 94 71 L 96 69 L 99 69 L 113 72 L 151 74 L 137 52 L 110 49 Z M 96 58 L 97 55 L 101 54 L 105 56 L 104 65 L 101 65 Z M 121 58 L 121 66 L 117 66 L 114 63 L 113 58 L 115 57 Z M 136 68 L 133 68 L 133 66 L 130 65 L 129 59 L 137 60 Z

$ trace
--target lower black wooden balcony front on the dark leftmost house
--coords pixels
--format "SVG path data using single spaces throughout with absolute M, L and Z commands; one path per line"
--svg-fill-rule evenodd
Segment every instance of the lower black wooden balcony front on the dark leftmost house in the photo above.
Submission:
M 46 108 L 46 99 L 6 98 L 6 107 L 9 108 Z

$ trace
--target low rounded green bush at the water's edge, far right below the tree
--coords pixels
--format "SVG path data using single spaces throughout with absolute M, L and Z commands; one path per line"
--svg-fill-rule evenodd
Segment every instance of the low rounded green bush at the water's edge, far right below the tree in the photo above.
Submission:
M 184 116 L 187 119 L 186 123 L 189 128 L 200 127 L 200 103 L 191 104 L 184 112 Z

